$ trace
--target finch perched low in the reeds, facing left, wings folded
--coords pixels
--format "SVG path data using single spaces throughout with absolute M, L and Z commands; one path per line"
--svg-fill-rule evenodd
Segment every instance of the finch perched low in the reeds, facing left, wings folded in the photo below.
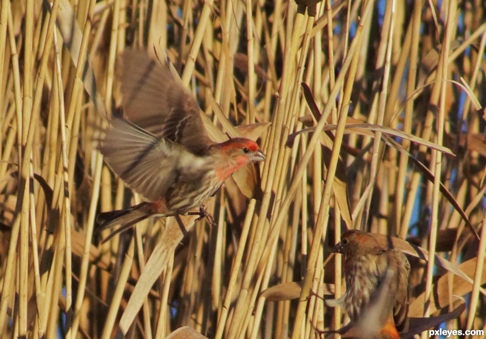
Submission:
M 397 250 L 383 248 L 366 232 L 343 234 L 333 252 L 344 255 L 346 293 L 328 300 L 340 306 L 365 338 L 399 338 L 407 319 L 410 263 Z

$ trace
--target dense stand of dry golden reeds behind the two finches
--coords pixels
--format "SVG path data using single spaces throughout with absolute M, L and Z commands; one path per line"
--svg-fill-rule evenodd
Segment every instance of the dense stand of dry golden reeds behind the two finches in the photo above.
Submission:
M 122 313 L 120 328 L 132 337 L 165 337 L 185 325 L 217 338 L 318 337 L 316 329 L 345 322 L 339 309 L 308 297 L 311 289 L 341 293 L 340 258 L 325 271 L 323 263 L 345 223 L 428 249 L 425 260 L 409 257 L 410 317 L 455 308 L 460 315 L 447 328 L 486 328 L 481 0 L 324 1 L 308 11 L 281 0 L 73 0 L 78 39 L 69 38 L 76 30 L 66 4 L 53 1 L 50 14 L 40 1 L 1 5 L 2 337 L 110 337 Z M 64 47 L 56 19 L 68 25 Z M 167 237 L 170 219 L 103 245 L 93 237 L 98 211 L 137 201 L 94 142 L 103 106 L 119 100 L 115 61 L 127 45 L 166 51 L 222 131 L 236 133 L 226 118 L 261 123 L 245 132 L 261 134 L 267 154 L 261 191 L 245 200 L 229 182 L 207 203 L 218 226 L 197 221 L 180 244 L 182 234 Z M 353 119 L 386 128 L 350 129 Z M 337 124 L 334 140 L 320 132 L 326 121 Z M 306 126 L 318 133 L 286 146 Z M 163 259 L 149 266 L 157 246 L 167 246 Z M 433 265 L 435 255 L 446 269 Z M 139 284 L 145 292 L 136 294 L 147 269 L 156 283 Z M 301 280 L 302 293 L 279 285 Z M 265 301 L 260 292 L 275 285 L 272 298 L 281 301 Z

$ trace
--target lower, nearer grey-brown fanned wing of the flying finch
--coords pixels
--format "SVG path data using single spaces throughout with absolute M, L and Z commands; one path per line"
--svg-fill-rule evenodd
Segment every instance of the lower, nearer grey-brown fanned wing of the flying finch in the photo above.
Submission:
M 128 187 L 155 201 L 164 197 L 177 175 L 183 147 L 123 119 L 112 119 L 100 151 L 106 163 Z

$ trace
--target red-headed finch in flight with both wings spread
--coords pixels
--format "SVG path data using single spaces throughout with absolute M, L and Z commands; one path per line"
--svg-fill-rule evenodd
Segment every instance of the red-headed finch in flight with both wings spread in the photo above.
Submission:
M 212 143 L 196 101 L 168 64 L 133 49 L 122 54 L 121 62 L 127 119 L 110 121 L 99 149 L 113 172 L 147 202 L 100 213 L 100 230 L 121 224 L 119 233 L 150 216 L 186 214 L 238 168 L 265 159 L 250 139 Z

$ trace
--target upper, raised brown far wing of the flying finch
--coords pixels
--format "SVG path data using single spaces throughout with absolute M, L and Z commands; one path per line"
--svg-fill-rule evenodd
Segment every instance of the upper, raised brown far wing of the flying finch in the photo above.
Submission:
M 200 153 L 211 143 L 193 96 L 174 78 L 165 62 L 145 50 L 126 49 L 121 55 L 122 106 L 125 117 L 158 138 Z

